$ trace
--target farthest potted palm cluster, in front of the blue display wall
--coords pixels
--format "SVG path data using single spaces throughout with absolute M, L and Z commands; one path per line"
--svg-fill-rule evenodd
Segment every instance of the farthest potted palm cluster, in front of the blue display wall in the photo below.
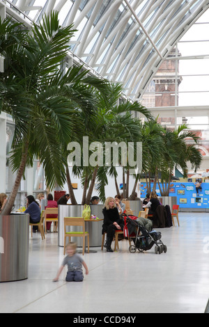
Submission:
M 157 120 L 146 122 L 142 129 L 144 138 L 143 173 L 146 177 L 147 191 L 160 189 L 164 202 L 168 203 L 169 189 L 175 167 L 183 170 L 187 176 L 187 164 L 191 163 L 196 170 L 201 163 L 201 152 L 196 148 L 198 137 L 188 131 L 186 125 L 180 125 L 173 130 L 162 127 Z M 188 144 L 191 140 L 193 144 Z M 153 189 L 150 189 L 150 180 L 154 178 Z

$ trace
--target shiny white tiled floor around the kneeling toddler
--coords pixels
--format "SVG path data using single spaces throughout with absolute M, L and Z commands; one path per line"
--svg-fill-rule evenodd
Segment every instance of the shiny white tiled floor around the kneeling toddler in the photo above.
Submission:
M 167 253 L 120 250 L 86 253 L 84 282 L 52 282 L 63 260 L 57 234 L 30 237 L 29 278 L 0 283 L 0 312 L 203 313 L 209 297 L 209 214 L 180 213 L 180 227 L 164 228 Z

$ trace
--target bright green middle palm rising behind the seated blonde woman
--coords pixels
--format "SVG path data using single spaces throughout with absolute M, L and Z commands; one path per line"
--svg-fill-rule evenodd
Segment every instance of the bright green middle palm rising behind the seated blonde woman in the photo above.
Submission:
M 122 86 L 119 83 L 109 83 L 109 97 L 108 101 L 101 94 L 98 94 L 98 115 L 97 124 L 93 129 L 93 134 L 95 135 L 95 141 L 102 143 L 103 149 L 107 142 L 120 144 L 124 142 L 126 145 L 129 142 L 137 143 L 141 140 L 141 120 L 139 118 L 133 118 L 133 112 L 139 112 L 145 115 L 146 118 L 152 119 L 150 111 L 138 102 L 123 102 L 122 104 L 117 104 L 118 99 L 121 97 Z M 118 150 L 118 165 L 122 163 L 121 149 Z M 107 185 L 108 179 L 107 175 L 114 175 L 116 182 L 116 169 L 114 169 L 114 163 L 112 162 L 113 157 L 111 156 L 111 163 L 109 166 L 105 167 L 95 167 L 91 188 L 89 188 L 88 195 L 86 197 L 86 202 L 90 200 L 91 193 L 93 190 L 93 185 L 95 180 L 98 182 L 98 192 L 100 199 L 104 201 L 105 193 L 104 186 Z M 104 156 L 105 160 L 105 156 Z M 104 161 L 103 161 L 104 162 Z M 127 176 L 129 175 L 129 168 L 132 168 L 128 164 L 129 160 L 127 158 L 126 168 Z M 124 163 L 123 165 L 124 166 Z M 128 184 L 129 178 L 127 177 Z

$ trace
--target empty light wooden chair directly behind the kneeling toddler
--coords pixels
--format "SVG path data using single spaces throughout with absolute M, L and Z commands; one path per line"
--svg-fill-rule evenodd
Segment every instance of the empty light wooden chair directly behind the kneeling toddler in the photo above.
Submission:
M 82 231 L 79 232 L 67 232 L 67 226 L 80 226 Z M 85 232 L 85 221 L 83 217 L 64 217 L 64 254 L 65 254 L 65 246 L 66 246 L 66 238 L 69 237 L 83 237 L 83 255 L 85 250 L 85 237 L 88 238 L 88 253 L 89 253 L 89 234 Z

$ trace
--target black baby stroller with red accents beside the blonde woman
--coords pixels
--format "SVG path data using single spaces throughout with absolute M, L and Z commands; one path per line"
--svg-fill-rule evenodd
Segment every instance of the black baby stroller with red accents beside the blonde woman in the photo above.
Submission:
M 129 251 L 130 253 L 135 253 L 138 249 L 139 252 L 144 252 L 146 250 L 150 250 L 155 244 L 155 253 L 166 253 L 167 246 L 164 245 L 161 241 L 161 232 L 156 232 L 156 230 L 152 230 L 148 232 L 143 225 L 141 225 L 138 221 L 133 220 L 129 216 L 126 217 L 126 223 L 131 224 L 134 230 L 137 230 L 136 233 L 129 235 L 131 241 L 134 242 L 134 245 L 130 245 Z M 141 234 L 140 234 L 141 232 Z

